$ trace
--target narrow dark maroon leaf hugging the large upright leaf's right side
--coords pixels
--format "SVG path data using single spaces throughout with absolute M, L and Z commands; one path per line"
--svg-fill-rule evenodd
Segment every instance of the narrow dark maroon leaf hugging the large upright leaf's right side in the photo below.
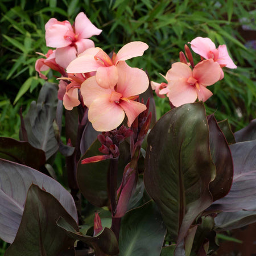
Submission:
M 228 143 L 218 127 L 214 115 L 209 115 L 207 119 L 210 133 L 210 153 L 216 166 L 216 177 L 209 184 L 209 189 L 213 201 L 216 201 L 230 191 L 233 180 L 233 160 Z

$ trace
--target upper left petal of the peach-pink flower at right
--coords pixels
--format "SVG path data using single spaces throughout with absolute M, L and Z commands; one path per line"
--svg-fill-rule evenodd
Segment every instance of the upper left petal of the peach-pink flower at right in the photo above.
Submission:
M 176 81 L 179 79 L 189 78 L 192 76 L 191 68 L 187 64 L 182 62 L 176 62 L 172 64 L 172 68 L 166 73 L 167 81 Z

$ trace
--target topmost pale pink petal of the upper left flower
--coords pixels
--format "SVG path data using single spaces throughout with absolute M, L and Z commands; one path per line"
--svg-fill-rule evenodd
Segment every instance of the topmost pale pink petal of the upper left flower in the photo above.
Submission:
M 102 30 L 99 30 L 92 22 L 87 18 L 84 13 L 79 13 L 75 19 L 76 34 L 79 35 L 79 40 L 82 38 L 90 38 L 93 35 L 100 35 Z

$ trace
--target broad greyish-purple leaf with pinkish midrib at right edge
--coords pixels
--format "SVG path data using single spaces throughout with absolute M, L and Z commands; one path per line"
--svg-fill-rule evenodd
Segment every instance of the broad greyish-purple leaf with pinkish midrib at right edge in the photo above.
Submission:
M 234 163 L 231 190 L 209 210 L 256 210 L 256 140 L 232 144 L 230 150 Z

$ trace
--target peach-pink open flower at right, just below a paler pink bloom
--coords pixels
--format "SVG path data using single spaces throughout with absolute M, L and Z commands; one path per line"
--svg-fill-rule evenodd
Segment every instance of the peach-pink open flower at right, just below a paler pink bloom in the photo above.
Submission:
M 174 106 L 200 101 L 206 101 L 212 92 L 206 87 L 220 79 L 221 68 L 213 59 L 203 60 L 195 66 L 193 71 L 187 64 L 177 62 L 167 72 L 167 88 L 160 94 L 168 93 L 168 97 Z

